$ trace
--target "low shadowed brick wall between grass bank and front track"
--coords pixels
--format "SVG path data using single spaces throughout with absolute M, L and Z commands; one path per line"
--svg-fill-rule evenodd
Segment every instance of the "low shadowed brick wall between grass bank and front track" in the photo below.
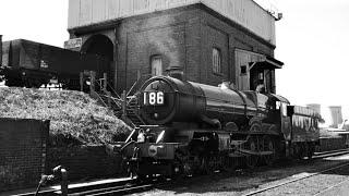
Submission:
M 117 176 L 120 163 L 121 158 L 107 155 L 105 146 L 49 147 L 47 154 L 47 173 L 63 166 L 69 180 Z

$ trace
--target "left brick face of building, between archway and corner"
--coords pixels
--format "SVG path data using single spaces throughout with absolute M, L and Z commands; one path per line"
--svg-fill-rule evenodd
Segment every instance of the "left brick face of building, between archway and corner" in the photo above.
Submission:
M 151 58 L 155 54 L 163 58 L 163 71 L 180 65 L 195 73 L 188 61 L 200 60 L 198 41 L 193 40 L 200 38 L 198 19 L 197 10 L 177 9 L 123 20 L 118 28 L 119 89 L 130 88 L 137 71 L 151 74 Z M 196 81 L 192 75 L 189 77 Z

